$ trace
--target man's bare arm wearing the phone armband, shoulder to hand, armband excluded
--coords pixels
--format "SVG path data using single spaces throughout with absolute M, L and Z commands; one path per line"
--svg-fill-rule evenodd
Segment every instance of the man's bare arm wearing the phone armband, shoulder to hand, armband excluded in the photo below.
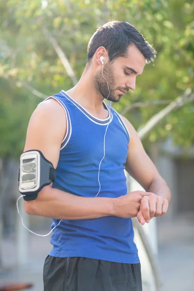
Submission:
M 32 114 L 24 151 L 40 150 L 56 168 L 65 133 L 64 109 L 56 100 L 49 99 L 40 103 Z M 28 214 L 56 219 L 91 219 L 109 215 L 127 218 L 137 215 L 144 195 L 137 191 L 118 198 L 80 197 L 49 185 L 35 200 L 24 201 L 24 206 Z

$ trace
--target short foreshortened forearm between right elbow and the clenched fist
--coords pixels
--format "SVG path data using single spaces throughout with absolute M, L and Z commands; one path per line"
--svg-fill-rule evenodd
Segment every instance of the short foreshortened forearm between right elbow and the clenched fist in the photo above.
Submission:
M 147 192 L 151 192 L 167 199 L 170 202 L 171 193 L 166 182 L 162 178 L 155 179 L 151 182 Z

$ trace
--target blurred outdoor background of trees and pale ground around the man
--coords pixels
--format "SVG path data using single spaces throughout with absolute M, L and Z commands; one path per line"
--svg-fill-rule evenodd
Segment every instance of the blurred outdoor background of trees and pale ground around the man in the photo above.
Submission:
M 137 129 L 172 193 L 165 216 L 142 229 L 134 221 L 144 291 L 194 291 L 193 0 L 0 0 L 0 288 L 43 290 L 51 245 L 17 214 L 19 156 L 37 104 L 77 83 L 90 37 L 112 19 L 134 25 L 158 52 L 136 90 L 113 105 Z M 140 189 L 130 177 L 128 184 Z M 29 217 L 21 200 L 19 208 L 26 226 L 49 232 L 51 220 Z

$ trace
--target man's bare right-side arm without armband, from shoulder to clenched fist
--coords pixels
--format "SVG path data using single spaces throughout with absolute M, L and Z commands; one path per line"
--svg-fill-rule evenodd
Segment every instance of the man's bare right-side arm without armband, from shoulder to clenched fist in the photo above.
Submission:
M 166 213 L 171 194 L 166 182 L 146 154 L 136 130 L 125 117 L 121 117 L 131 136 L 126 170 L 147 192 L 153 193 L 144 196 L 141 201 L 141 208 L 137 217 L 144 224 L 145 220 L 148 222 L 154 216 L 161 216 Z

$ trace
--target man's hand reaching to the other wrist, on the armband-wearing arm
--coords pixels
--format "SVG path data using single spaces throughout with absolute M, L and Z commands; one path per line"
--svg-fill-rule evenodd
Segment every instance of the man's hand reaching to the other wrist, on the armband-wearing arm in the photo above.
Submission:
M 144 191 L 133 191 L 124 196 L 114 198 L 114 216 L 123 218 L 136 217 L 143 197 L 148 197 L 152 194 Z

